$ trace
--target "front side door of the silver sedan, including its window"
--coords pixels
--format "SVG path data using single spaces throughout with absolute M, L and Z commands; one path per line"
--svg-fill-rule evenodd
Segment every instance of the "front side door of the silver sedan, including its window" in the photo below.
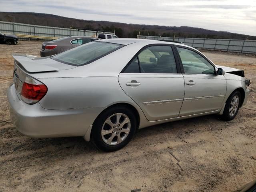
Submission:
M 214 65 L 199 52 L 182 46 L 176 48 L 185 81 L 179 116 L 219 110 L 226 95 L 226 78 L 216 75 Z

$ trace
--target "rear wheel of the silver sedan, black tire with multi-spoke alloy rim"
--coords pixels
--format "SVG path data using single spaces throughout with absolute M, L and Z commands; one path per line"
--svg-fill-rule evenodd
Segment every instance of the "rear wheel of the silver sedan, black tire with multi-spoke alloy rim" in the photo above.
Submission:
M 103 151 L 116 151 L 128 144 L 136 130 L 136 118 L 125 106 L 115 106 L 104 111 L 95 120 L 92 137 Z

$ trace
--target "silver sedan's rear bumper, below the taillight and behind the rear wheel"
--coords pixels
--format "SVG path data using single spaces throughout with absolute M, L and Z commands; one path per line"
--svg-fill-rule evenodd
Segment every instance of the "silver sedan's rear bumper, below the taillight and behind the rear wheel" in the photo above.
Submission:
M 102 108 L 46 110 L 39 103 L 19 100 L 14 85 L 8 89 L 11 120 L 19 132 L 35 138 L 84 136 Z

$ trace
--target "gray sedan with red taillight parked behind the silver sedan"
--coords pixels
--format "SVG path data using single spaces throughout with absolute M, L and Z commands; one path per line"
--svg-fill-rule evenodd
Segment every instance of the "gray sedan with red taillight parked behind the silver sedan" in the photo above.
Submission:
M 40 51 L 41 57 L 51 56 L 72 49 L 74 47 L 86 44 L 99 38 L 86 37 L 86 36 L 71 36 L 63 37 L 50 42 L 43 42 L 42 50 Z

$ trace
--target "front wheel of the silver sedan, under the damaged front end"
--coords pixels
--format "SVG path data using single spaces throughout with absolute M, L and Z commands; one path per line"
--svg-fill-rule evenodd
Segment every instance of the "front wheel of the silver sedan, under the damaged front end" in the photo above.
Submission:
M 235 91 L 229 96 L 223 114 L 220 116 L 222 120 L 230 121 L 236 117 L 241 106 L 241 98 L 241 93 L 239 91 Z

